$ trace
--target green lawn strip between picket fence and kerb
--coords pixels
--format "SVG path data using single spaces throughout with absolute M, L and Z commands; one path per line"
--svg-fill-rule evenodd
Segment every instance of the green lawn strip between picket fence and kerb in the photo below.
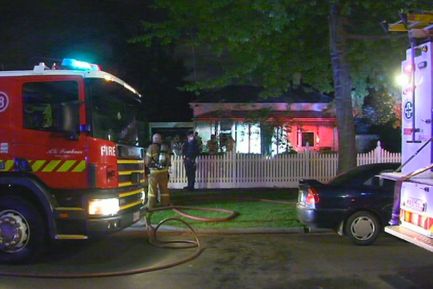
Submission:
M 171 201 L 178 206 L 224 209 L 237 212 L 237 216 L 223 222 L 203 222 L 180 216 L 173 210 L 154 212 L 151 223 L 158 224 L 166 218 L 179 218 L 198 229 L 228 228 L 290 228 L 302 227 L 296 218 L 297 189 L 251 189 L 227 191 L 200 191 L 199 194 L 172 194 Z M 225 219 L 226 212 L 182 210 L 200 218 Z M 181 222 L 170 221 L 166 225 L 185 226 Z

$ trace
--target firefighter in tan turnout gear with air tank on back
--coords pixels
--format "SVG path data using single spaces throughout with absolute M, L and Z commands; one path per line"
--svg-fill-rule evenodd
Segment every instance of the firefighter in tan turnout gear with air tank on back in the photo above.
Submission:
M 168 191 L 168 167 L 170 166 L 169 149 L 162 143 L 160 134 L 154 134 L 152 142 L 153 143 L 147 149 L 145 157 L 146 166 L 150 170 L 147 203 L 149 209 L 152 209 L 158 202 L 158 188 L 161 194 L 161 205 L 170 205 L 170 194 Z

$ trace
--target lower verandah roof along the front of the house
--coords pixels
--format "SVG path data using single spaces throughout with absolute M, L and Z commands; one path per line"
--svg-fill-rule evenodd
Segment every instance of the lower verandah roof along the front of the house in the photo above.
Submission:
M 246 120 L 246 119 L 260 119 L 257 111 L 212 111 L 204 113 L 194 118 L 194 120 Z M 328 112 L 317 112 L 317 111 L 269 111 L 263 116 L 267 120 L 274 119 L 278 120 L 300 120 L 300 119 L 311 119 L 311 121 L 331 121 L 335 122 L 336 118 L 334 115 Z

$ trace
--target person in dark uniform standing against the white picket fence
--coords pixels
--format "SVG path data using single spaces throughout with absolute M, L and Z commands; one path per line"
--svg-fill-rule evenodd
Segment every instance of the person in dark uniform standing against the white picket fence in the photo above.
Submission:
M 183 164 L 186 170 L 186 177 L 188 178 L 188 185 L 184 187 L 187 190 L 194 190 L 195 183 L 195 171 L 197 165 L 195 164 L 195 158 L 200 153 L 198 148 L 197 140 L 194 137 L 194 132 L 189 131 L 186 135 L 186 141 L 182 146 Z

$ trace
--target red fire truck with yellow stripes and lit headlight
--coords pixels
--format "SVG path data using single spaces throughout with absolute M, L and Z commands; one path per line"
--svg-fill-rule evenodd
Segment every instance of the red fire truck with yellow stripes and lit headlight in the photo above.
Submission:
M 122 230 L 144 213 L 141 95 L 96 64 L 0 71 L 0 262 L 53 240 Z

